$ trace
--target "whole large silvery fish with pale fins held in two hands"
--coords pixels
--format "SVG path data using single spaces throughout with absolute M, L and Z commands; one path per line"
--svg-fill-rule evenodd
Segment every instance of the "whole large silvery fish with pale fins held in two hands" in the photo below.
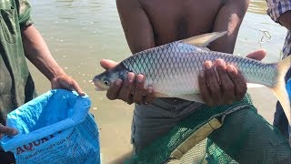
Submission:
M 179 97 L 203 102 L 199 95 L 198 75 L 206 60 L 221 58 L 235 66 L 246 83 L 271 88 L 280 101 L 289 121 L 291 140 L 291 108 L 284 77 L 291 66 L 291 56 L 278 63 L 262 63 L 244 56 L 210 51 L 206 46 L 227 32 L 214 32 L 146 49 L 120 62 L 116 67 L 97 75 L 93 81 L 97 90 L 106 90 L 117 78 L 125 79 L 128 72 L 146 77 L 145 88 L 154 87 L 156 97 Z

